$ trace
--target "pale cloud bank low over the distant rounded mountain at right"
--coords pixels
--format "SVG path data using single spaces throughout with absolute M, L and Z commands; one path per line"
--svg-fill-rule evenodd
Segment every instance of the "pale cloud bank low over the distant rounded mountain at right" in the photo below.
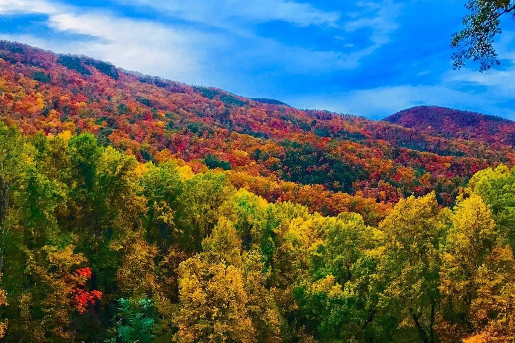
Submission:
M 375 8 L 370 5 L 371 8 Z M 351 27 L 366 26 L 366 20 L 358 19 Z M 393 28 L 390 28 L 393 29 Z M 384 32 L 388 31 L 385 24 Z M 497 44 L 500 58 L 507 69 L 491 69 L 479 73 L 468 67 L 449 70 L 434 84 L 402 84 L 333 94 L 311 95 L 284 99 L 302 107 L 328 109 L 335 112 L 364 115 L 375 119 L 384 118 L 403 109 L 417 105 L 439 105 L 462 110 L 479 111 L 515 120 L 515 109 L 508 104 L 515 94 L 515 32 L 503 32 Z M 419 75 L 430 71 L 423 70 Z

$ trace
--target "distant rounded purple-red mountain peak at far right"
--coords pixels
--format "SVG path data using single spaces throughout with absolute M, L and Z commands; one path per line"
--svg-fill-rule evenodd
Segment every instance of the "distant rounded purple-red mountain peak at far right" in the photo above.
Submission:
M 403 127 L 446 138 L 488 143 L 515 143 L 515 122 L 476 112 L 438 106 L 417 106 L 385 119 Z

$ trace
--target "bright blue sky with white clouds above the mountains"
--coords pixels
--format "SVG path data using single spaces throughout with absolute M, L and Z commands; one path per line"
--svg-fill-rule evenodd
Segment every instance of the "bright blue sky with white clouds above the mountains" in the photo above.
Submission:
M 515 119 L 515 25 L 502 65 L 454 71 L 465 0 L 0 0 L 0 39 L 374 119 L 410 106 Z

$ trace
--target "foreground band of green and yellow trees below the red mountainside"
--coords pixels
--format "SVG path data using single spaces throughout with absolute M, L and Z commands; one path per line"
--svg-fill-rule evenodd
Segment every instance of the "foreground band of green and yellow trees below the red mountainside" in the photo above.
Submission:
M 7 342 L 510 342 L 515 170 L 379 225 L 0 124 Z

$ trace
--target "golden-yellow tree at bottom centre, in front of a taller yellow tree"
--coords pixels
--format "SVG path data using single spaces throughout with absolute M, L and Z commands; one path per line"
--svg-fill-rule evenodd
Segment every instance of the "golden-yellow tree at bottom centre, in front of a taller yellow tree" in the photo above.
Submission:
M 255 342 L 240 269 L 192 257 L 179 267 L 176 342 Z

